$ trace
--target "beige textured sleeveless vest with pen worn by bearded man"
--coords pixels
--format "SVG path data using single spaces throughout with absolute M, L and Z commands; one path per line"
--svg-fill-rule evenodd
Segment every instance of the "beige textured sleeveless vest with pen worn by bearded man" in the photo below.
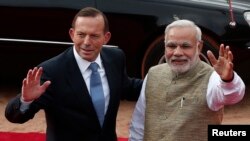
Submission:
M 207 141 L 208 125 L 220 124 L 223 118 L 223 109 L 215 112 L 207 106 L 212 71 L 202 61 L 179 76 L 167 63 L 149 70 L 144 141 Z

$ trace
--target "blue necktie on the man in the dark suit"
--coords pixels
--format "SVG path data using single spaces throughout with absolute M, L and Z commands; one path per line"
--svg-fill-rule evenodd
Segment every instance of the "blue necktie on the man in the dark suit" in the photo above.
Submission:
M 95 111 L 97 113 L 100 125 L 102 126 L 104 121 L 104 107 L 105 107 L 105 100 L 104 100 L 104 93 L 102 87 L 102 81 L 98 69 L 98 64 L 93 62 L 90 64 L 89 68 L 91 69 L 92 73 L 90 76 L 90 95 L 92 98 L 92 102 L 95 107 Z

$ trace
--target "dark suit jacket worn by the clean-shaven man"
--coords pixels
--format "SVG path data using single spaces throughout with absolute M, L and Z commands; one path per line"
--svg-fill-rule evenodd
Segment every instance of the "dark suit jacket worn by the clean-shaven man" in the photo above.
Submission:
M 85 81 L 69 48 L 41 63 L 41 82 L 52 83 L 46 92 L 22 113 L 20 94 L 9 101 L 5 116 L 10 122 L 24 123 L 44 109 L 47 141 L 116 141 L 116 117 L 121 98 L 136 100 L 142 80 L 127 76 L 125 56 L 120 49 L 103 48 L 101 59 L 110 87 L 110 101 L 103 127 L 98 122 Z

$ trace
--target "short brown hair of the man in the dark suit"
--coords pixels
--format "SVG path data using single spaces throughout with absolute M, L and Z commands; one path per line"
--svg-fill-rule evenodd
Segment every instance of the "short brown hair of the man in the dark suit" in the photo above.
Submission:
M 72 21 L 72 28 L 75 27 L 75 22 L 76 19 L 78 17 L 96 17 L 101 15 L 104 19 L 104 32 L 109 32 L 109 22 L 108 22 L 108 18 L 106 17 L 106 15 L 101 12 L 100 10 L 94 8 L 94 7 L 85 7 L 83 9 L 81 9 L 74 17 L 73 21 Z

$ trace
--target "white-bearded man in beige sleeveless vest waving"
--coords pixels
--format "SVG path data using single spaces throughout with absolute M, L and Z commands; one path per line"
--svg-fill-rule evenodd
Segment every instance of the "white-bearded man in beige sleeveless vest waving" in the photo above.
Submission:
M 201 30 L 178 20 L 165 30 L 167 63 L 152 67 L 143 84 L 130 126 L 130 141 L 207 141 L 210 124 L 221 124 L 224 105 L 245 94 L 233 70 L 229 46 L 219 57 L 207 52 L 212 66 L 199 58 Z

